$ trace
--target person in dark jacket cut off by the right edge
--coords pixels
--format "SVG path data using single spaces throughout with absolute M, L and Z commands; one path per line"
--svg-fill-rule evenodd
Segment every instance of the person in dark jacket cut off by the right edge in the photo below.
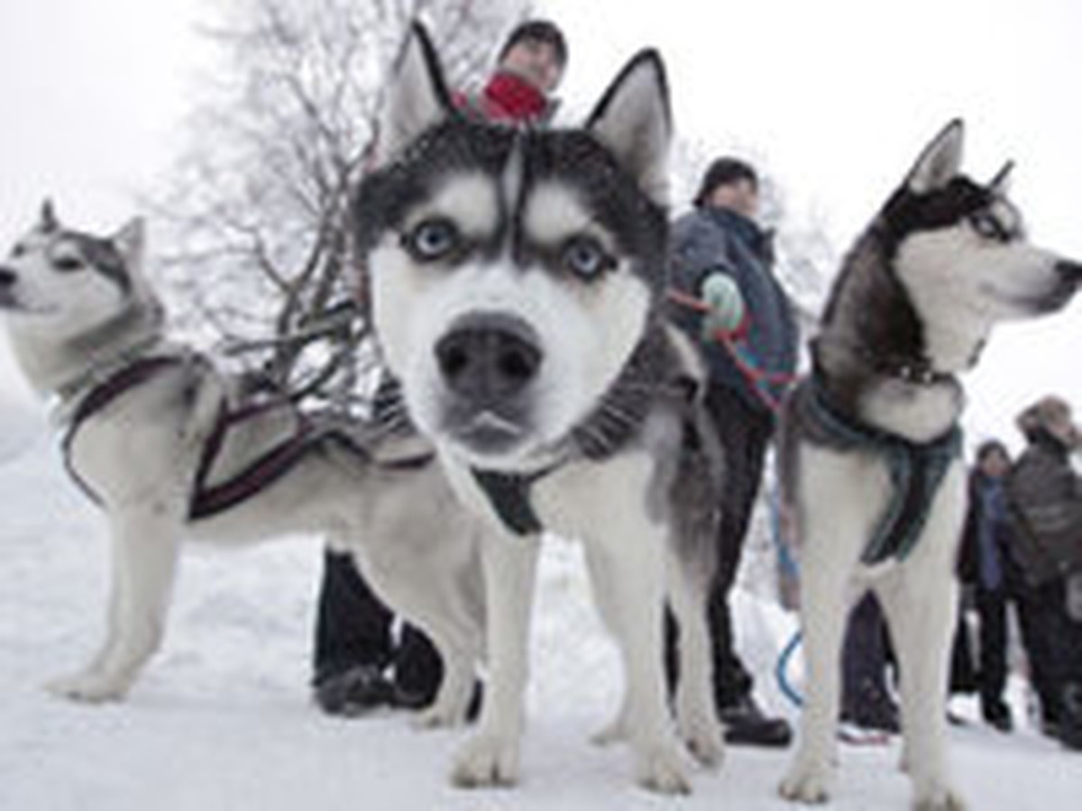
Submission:
M 1018 417 L 1026 450 L 1006 479 L 1026 576 L 1021 627 L 1045 732 L 1082 750 L 1082 430 L 1058 397 Z

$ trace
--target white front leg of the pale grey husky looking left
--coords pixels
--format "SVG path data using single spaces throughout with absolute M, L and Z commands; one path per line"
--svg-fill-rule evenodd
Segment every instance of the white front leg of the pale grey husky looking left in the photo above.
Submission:
M 51 682 L 57 695 L 101 702 L 124 696 L 158 649 L 180 548 L 179 524 L 153 508 L 115 517 L 106 639 L 82 672 Z

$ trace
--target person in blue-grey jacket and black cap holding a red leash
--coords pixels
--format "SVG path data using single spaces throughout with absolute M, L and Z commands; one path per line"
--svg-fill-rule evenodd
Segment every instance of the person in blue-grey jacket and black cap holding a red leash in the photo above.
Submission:
M 752 696 L 753 679 L 737 655 L 729 609 L 782 381 L 796 369 L 796 321 L 774 276 L 770 235 L 755 222 L 757 212 L 755 170 L 735 158 L 715 160 L 702 177 L 695 210 L 672 231 L 672 283 L 677 293 L 699 298 L 705 311 L 677 305 L 673 318 L 707 360 L 704 403 L 725 453 L 718 567 L 708 602 L 714 700 L 730 743 L 787 746 L 788 721 L 765 716 Z M 755 370 L 764 374 L 756 376 Z M 670 624 L 670 649 L 673 638 Z

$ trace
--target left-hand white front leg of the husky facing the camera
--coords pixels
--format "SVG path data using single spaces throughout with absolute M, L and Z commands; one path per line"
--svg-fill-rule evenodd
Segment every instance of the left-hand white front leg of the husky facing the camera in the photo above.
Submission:
M 479 729 L 456 759 L 451 775 L 456 785 L 472 788 L 518 782 L 538 550 L 533 536 L 488 533 L 481 543 L 488 683 Z

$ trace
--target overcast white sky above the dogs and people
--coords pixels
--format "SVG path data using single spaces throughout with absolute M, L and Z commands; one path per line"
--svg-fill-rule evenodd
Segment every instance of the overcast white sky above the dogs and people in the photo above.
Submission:
M 45 195 L 62 216 L 113 228 L 169 169 L 209 49 L 207 0 L 0 3 L 0 245 Z M 665 57 L 681 133 L 708 154 L 765 160 L 797 216 L 844 248 L 949 118 L 967 168 L 1018 161 L 1015 199 L 1039 242 L 1082 257 L 1082 3 L 1070 0 L 541 0 L 571 45 L 564 87 L 585 109 L 644 44 Z M 153 231 L 151 231 L 153 234 Z M 151 254 L 154 245 L 150 245 Z M 972 438 L 1039 394 L 1082 409 L 1082 304 L 993 337 L 971 376 Z M 0 393 L 17 388 L 0 364 Z

